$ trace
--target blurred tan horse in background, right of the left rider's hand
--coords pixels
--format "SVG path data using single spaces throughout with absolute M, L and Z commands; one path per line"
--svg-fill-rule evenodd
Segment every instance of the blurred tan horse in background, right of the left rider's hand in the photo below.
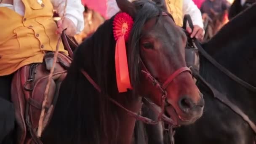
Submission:
M 105 21 L 104 17 L 101 16 L 100 13 L 88 8 L 87 5 L 84 7 L 85 11 L 83 12 L 83 17 L 85 20 L 85 28 L 81 33 L 74 36 L 75 40 L 79 44 L 82 43 L 87 37 L 92 35 L 93 32 L 95 32 L 96 29 Z

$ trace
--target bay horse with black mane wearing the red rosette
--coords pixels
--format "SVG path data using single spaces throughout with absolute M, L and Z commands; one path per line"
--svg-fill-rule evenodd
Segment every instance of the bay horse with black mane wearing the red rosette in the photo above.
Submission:
M 202 115 L 203 97 L 189 70 L 177 71 L 186 68 L 184 47 L 187 37 L 175 25 L 171 15 L 163 13 L 166 11 L 163 3 L 160 0 L 133 3 L 117 0 L 121 11 L 134 20 L 126 44 L 133 89 L 125 93 L 117 91 L 114 16 L 75 51 L 67 77 L 61 84 L 53 117 L 43 131 L 43 143 L 131 144 L 136 119 L 109 101 L 110 98 L 133 112 L 141 109 L 139 95 L 150 98 L 159 106 L 164 104 L 176 125 L 194 123 Z M 142 61 L 150 75 L 141 72 L 146 70 Z M 100 93 L 81 69 L 99 85 Z M 147 76 L 153 77 L 154 81 Z M 157 87 L 157 81 L 160 87 Z M 165 92 L 160 91 L 162 88 Z M 166 99 L 162 103 L 165 93 Z

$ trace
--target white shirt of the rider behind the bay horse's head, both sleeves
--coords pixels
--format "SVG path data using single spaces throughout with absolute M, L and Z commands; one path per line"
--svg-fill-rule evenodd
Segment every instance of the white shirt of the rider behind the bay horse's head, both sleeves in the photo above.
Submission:
M 107 18 L 111 18 L 118 11 L 120 11 L 120 9 L 117 6 L 116 0 L 107 0 Z M 189 14 L 193 24 L 203 28 L 202 14 L 192 0 L 183 0 L 182 12 L 182 17 L 184 17 L 185 14 Z

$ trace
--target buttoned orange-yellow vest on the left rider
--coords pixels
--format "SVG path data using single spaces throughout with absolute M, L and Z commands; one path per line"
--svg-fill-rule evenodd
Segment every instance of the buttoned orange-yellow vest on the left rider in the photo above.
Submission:
M 0 7 L 0 76 L 43 61 L 45 51 L 55 51 L 58 41 L 51 0 L 22 0 L 24 16 Z M 67 54 L 61 43 L 59 51 Z

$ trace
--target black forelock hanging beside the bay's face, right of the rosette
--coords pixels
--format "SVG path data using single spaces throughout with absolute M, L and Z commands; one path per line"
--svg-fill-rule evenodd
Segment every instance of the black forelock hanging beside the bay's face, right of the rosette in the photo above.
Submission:
M 139 85 L 139 40 L 141 38 L 141 32 L 144 24 L 149 19 L 152 19 L 155 16 L 159 16 L 162 10 L 160 7 L 157 7 L 154 2 L 149 0 L 136 0 L 133 3 L 136 7 L 137 13 L 134 18 L 133 29 L 131 30 L 128 43 L 128 65 L 131 83 L 133 85 L 133 95 L 136 96 L 138 94 L 138 90 L 136 88 Z

